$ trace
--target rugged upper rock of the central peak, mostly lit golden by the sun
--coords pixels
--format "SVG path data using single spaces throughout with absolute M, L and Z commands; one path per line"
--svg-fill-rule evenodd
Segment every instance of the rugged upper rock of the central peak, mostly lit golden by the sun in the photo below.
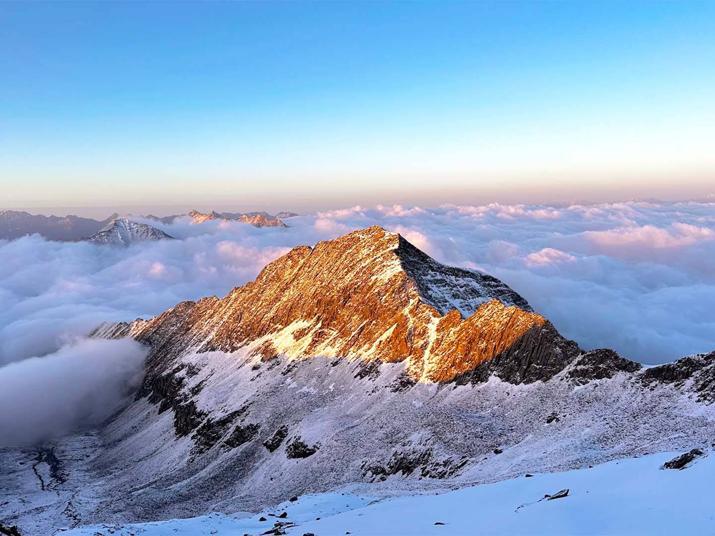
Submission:
M 480 381 L 493 373 L 513 383 L 546 379 L 578 354 L 501 281 L 441 265 L 378 227 L 294 248 L 223 299 L 180 303 L 98 334 L 130 334 L 152 346 L 148 389 L 192 348 L 406 361 L 414 381 L 438 382 L 470 371 Z

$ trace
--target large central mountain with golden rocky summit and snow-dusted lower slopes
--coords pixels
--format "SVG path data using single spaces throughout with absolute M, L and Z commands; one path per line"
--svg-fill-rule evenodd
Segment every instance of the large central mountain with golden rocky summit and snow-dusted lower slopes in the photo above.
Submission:
M 0 520 L 23 535 L 448 491 L 715 435 L 715 352 L 644 369 L 583 351 L 506 284 L 377 227 L 92 336 L 149 346 L 143 384 L 101 429 L 0 451 Z

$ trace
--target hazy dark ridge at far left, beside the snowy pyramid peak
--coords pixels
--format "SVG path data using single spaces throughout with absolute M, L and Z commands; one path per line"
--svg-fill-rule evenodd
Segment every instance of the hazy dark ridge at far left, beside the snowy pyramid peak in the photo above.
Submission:
M 79 216 L 32 215 L 19 210 L 0 210 L 0 240 L 38 233 L 49 240 L 82 240 L 111 223 L 118 214 L 97 221 Z

